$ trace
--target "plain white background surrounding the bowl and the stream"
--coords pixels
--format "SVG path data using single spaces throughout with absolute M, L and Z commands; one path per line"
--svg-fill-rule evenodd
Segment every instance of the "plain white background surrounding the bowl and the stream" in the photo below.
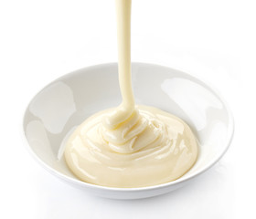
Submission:
M 0 218 L 255 218 L 254 0 L 133 0 L 132 59 L 205 78 L 233 111 L 229 151 L 187 187 L 136 201 L 80 193 L 43 170 L 23 111 L 50 81 L 117 60 L 114 0 L 0 0 Z

